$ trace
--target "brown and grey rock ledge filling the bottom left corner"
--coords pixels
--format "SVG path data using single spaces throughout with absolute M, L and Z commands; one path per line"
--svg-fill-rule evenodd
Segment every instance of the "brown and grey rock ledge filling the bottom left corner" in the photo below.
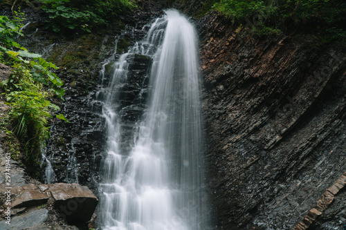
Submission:
M 0 229 L 78 229 L 95 227 L 98 198 L 80 184 L 0 186 Z M 66 223 L 67 224 L 66 224 Z

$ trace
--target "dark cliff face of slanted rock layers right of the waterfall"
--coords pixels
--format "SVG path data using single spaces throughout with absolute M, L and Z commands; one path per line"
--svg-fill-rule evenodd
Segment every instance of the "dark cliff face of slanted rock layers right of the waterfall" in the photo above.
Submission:
M 293 229 L 346 172 L 345 46 L 256 37 L 215 12 L 197 25 L 217 229 Z M 342 188 L 303 229 L 345 223 Z

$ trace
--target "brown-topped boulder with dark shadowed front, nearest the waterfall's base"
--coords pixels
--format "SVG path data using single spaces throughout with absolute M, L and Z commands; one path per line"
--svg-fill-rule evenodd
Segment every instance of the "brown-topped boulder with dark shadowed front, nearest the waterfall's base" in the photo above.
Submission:
M 98 204 L 93 192 L 80 184 L 42 184 L 39 187 L 51 191 L 55 210 L 69 224 L 89 221 Z

